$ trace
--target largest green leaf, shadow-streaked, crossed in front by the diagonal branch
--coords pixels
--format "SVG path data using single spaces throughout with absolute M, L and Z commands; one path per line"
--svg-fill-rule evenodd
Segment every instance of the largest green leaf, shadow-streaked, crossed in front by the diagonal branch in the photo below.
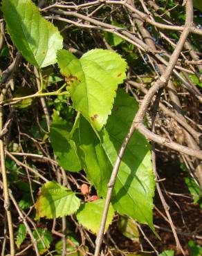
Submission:
M 104 151 L 112 165 L 116 162 L 136 111 L 137 102 L 124 91 L 120 91 L 102 137 Z M 136 131 L 129 140 L 120 163 L 112 198 L 114 208 L 120 214 L 127 214 L 140 223 L 148 223 L 152 228 L 154 186 L 150 145 L 145 137 Z

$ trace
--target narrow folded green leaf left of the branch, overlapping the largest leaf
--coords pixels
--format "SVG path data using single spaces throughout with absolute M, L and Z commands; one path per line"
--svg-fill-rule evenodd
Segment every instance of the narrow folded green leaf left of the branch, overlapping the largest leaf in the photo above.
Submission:
M 73 134 L 82 166 L 100 196 L 107 193 L 107 183 L 111 174 L 111 163 L 107 160 L 104 149 L 89 122 L 80 116 L 78 127 Z

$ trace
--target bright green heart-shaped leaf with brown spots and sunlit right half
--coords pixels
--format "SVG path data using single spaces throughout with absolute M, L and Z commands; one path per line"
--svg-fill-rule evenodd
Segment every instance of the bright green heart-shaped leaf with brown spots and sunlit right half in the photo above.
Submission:
M 118 84 L 126 77 L 125 60 L 117 53 L 95 49 L 80 60 L 66 50 L 58 51 L 57 62 L 67 77 L 73 107 L 95 129 L 102 129 L 111 113 Z

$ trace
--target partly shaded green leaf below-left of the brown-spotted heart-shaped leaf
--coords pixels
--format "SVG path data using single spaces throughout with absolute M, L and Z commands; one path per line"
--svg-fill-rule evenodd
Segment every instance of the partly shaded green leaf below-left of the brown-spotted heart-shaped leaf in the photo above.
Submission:
M 57 161 L 65 170 L 78 172 L 82 169 L 80 159 L 75 150 L 75 143 L 70 140 L 68 133 L 68 125 L 56 114 L 50 125 L 50 141 Z

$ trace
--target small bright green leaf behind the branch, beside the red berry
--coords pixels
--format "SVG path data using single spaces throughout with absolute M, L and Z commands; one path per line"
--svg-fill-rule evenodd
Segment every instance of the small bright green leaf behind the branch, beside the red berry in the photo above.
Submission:
M 81 205 L 76 216 L 82 226 L 88 228 L 95 234 L 98 234 L 100 228 L 100 222 L 102 219 L 102 212 L 104 209 L 104 199 L 98 199 L 93 202 L 84 203 Z M 107 214 L 107 221 L 104 232 L 107 231 L 111 221 L 113 220 L 114 210 L 111 204 L 109 205 L 109 211 Z

